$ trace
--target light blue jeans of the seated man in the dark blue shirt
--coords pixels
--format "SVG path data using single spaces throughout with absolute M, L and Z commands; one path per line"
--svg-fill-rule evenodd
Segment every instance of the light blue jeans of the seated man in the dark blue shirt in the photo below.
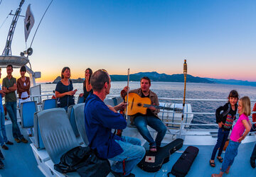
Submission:
M 116 161 L 112 166 L 112 171 L 123 173 L 122 161 L 125 159 L 125 175 L 129 175 L 134 166 L 141 161 L 146 153 L 144 147 L 141 146 L 139 139 L 134 137 L 121 137 L 122 140 L 115 140 L 124 150 L 121 154 L 114 156 L 112 161 Z

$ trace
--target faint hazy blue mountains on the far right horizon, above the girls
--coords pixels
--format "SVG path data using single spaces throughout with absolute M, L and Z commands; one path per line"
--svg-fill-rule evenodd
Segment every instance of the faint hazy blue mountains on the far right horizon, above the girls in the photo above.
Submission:
M 230 85 L 240 85 L 240 86 L 256 86 L 255 81 L 241 81 L 241 80 L 235 80 L 235 79 L 211 79 L 211 78 L 205 78 L 209 81 L 214 81 L 217 84 L 230 84 Z

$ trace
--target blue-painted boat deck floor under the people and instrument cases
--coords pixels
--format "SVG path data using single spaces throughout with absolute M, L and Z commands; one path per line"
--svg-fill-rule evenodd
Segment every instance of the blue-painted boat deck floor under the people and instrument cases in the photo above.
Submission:
M 127 128 L 129 129 L 129 128 Z M 132 128 L 134 132 L 136 132 L 136 128 Z M 133 132 L 129 130 L 129 132 Z M 11 125 L 6 125 L 6 132 L 9 140 L 14 142 L 14 139 L 11 136 Z M 28 139 L 26 135 L 26 130 L 21 129 L 21 132 Z M 126 131 L 124 131 L 126 132 Z M 134 132 L 132 133 L 134 135 Z M 137 135 L 138 136 L 138 135 Z M 193 137 L 189 137 L 193 139 Z M 197 137 L 198 139 L 207 139 L 206 137 Z M 212 139 L 213 142 L 216 141 L 216 138 L 208 137 L 208 139 Z M 255 139 L 255 135 L 247 137 L 245 139 L 246 143 L 240 144 L 238 149 L 238 156 L 235 158 L 235 162 L 230 169 L 230 173 L 224 176 L 255 176 L 256 169 L 252 169 L 250 166 L 250 155 L 252 153 L 252 149 L 255 145 L 255 142 L 250 141 L 250 139 Z M 168 139 L 164 139 L 164 143 L 167 142 Z M 189 142 L 189 141 L 187 141 Z M 164 145 L 163 143 L 163 145 Z M 16 143 L 14 145 L 8 146 L 9 150 L 1 149 L 5 156 L 4 165 L 5 168 L 0 170 L 0 176 L 43 176 L 43 173 L 38 169 L 38 164 L 36 163 L 35 156 L 33 155 L 32 149 L 28 144 L 24 143 Z M 200 143 L 195 143 L 200 144 Z M 139 167 L 135 167 L 132 173 L 136 176 L 167 176 L 167 173 L 171 171 L 172 166 L 175 164 L 179 156 L 183 150 L 188 147 L 189 144 L 186 144 L 186 139 L 184 145 L 178 152 L 171 154 L 170 161 L 164 164 L 160 171 L 156 173 L 147 173 L 139 169 Z M 209 145 L 194 145 L 199 148 L 199 154 L 196 157 L 193 165 L 191 166 L 191 170 L 188 172 L 187 176 L 210 176 L 212 173 L 219 173 L 221 164 L 219 161 L 215 161 L 216 167 L 213 168 L 209 165 L 209 160 L 211 156 L 211 152 L 213 150 L 213 144 Z M 147 149 L 148 144 L 145 143 L 144 147 Z M 224 157 L 223 153 L 223 157 Z M 112 176 L 110 174 L 109 176 Z M 173 175 L 170 175 L 173 176 Z

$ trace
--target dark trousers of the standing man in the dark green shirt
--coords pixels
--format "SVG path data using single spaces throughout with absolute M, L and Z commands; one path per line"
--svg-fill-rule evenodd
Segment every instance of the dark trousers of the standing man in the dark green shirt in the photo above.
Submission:
M 17 123 L 17 102 L 6 102 L 6 110 L 11 118 L 12 122 L 12 133 L 13 137 L 17 139 L 22 139 L 23 135 L 21 135 L 21 131 L 19 130 Z

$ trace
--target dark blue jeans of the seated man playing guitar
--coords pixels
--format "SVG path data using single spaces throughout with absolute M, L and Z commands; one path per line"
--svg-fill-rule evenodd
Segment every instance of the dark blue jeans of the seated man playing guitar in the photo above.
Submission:
M 136 125 L 142 137 L 149 142 L 150 147 L 161 146 L 161 141 L 164 139 L 164 135 L 166 135 L 167 128 L 159 118 L 156 118 L 153 115 L 138 115 L 136 118 L 134 118 L 134 125 Z M 154 141 L 154 139 L 151 137 L 146 125 L 149 125 L 149 127 L 156 130 L 156 141 Z

